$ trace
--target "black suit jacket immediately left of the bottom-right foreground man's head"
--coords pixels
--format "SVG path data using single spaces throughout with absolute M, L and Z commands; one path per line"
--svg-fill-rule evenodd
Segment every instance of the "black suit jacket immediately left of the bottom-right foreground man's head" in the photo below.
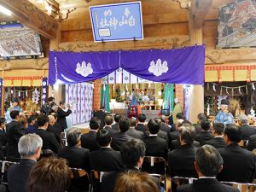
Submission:
M 183 145 L 168 153 L 171 177 L 197 177 L 194 166 L 196 150 L 192 145 Z

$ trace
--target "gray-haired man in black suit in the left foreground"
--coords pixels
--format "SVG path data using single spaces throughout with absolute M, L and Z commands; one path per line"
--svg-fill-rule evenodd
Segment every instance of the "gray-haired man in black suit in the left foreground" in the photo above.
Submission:
M 34 166 L 41 154 L 43 141 L 36 134 L 28 134 L 20 137 L 18 143 L 20 164 L 9 167 L 7 172 L 10 192 L 26 192 L 26 183 L 32 166 Z

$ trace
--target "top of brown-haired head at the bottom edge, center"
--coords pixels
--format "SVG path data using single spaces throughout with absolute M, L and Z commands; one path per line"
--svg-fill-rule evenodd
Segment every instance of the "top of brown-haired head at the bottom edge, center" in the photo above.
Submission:
M 116 180 L 114 192 L 160 192 L 152 177 L 146 172 L 128 171 Z

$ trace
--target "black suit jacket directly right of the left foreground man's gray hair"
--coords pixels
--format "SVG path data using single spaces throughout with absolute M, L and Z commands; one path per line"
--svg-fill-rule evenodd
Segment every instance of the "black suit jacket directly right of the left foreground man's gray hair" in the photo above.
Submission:
M 38 129 L 36 134 L 43 139 L 43 149 L 50 149 L 55 154 L 61 149 L 61 144 L 58 143 L 55 134 L 43 129 Z

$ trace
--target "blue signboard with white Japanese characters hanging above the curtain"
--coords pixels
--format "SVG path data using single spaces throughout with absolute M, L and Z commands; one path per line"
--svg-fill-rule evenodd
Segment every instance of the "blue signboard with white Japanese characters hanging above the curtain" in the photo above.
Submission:
M 95 42 L 143 39 L 141 2 L 90 7 Z

